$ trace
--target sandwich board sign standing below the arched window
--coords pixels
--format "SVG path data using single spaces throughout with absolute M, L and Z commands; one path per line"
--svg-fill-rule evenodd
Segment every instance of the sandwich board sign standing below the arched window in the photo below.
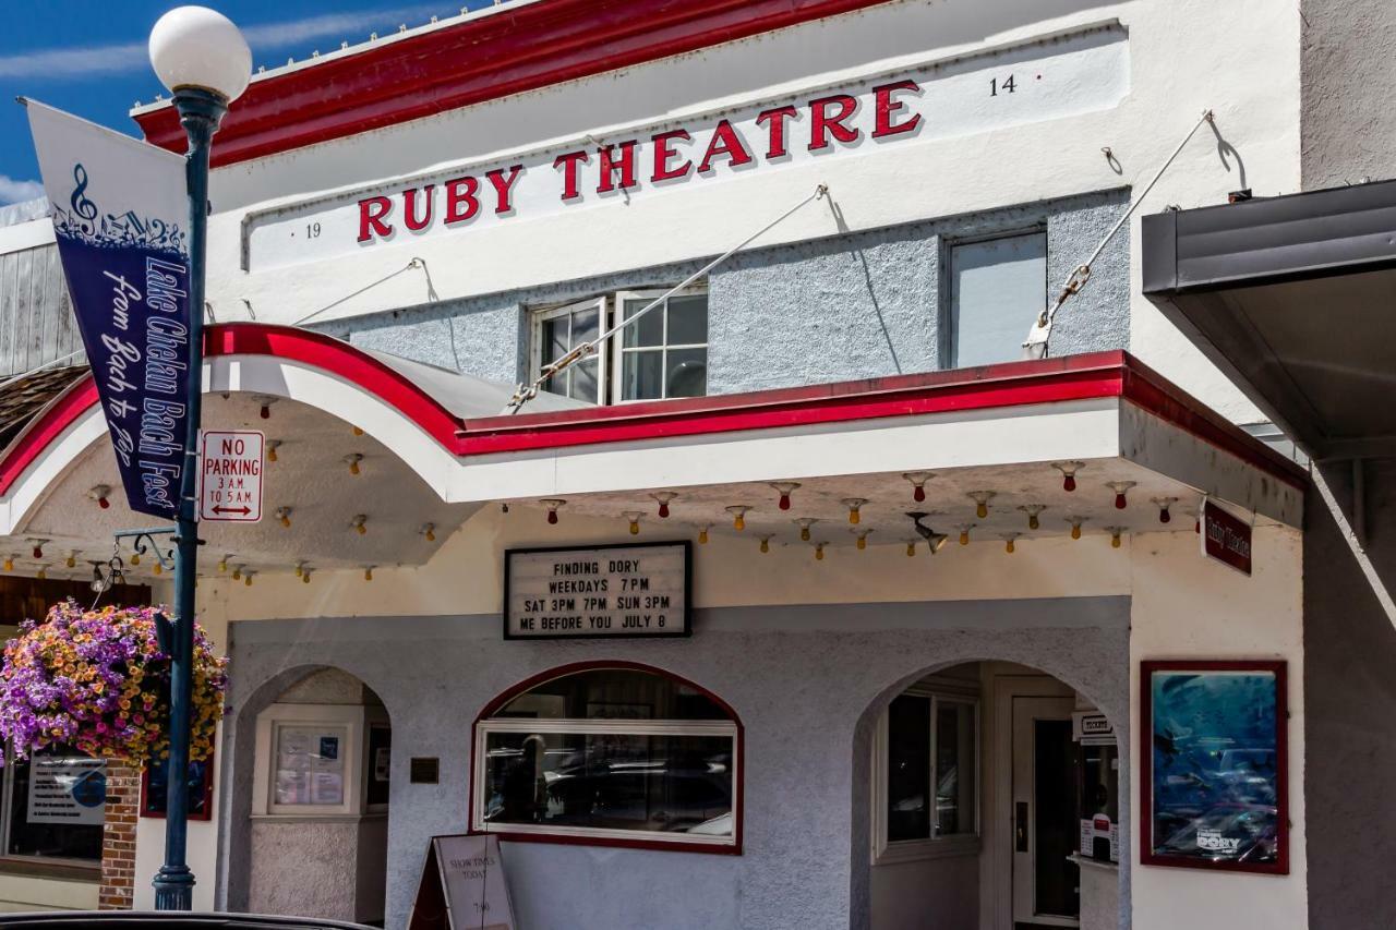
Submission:
M 408 930 L 517 930 L 500 838 L 433 836 Z

